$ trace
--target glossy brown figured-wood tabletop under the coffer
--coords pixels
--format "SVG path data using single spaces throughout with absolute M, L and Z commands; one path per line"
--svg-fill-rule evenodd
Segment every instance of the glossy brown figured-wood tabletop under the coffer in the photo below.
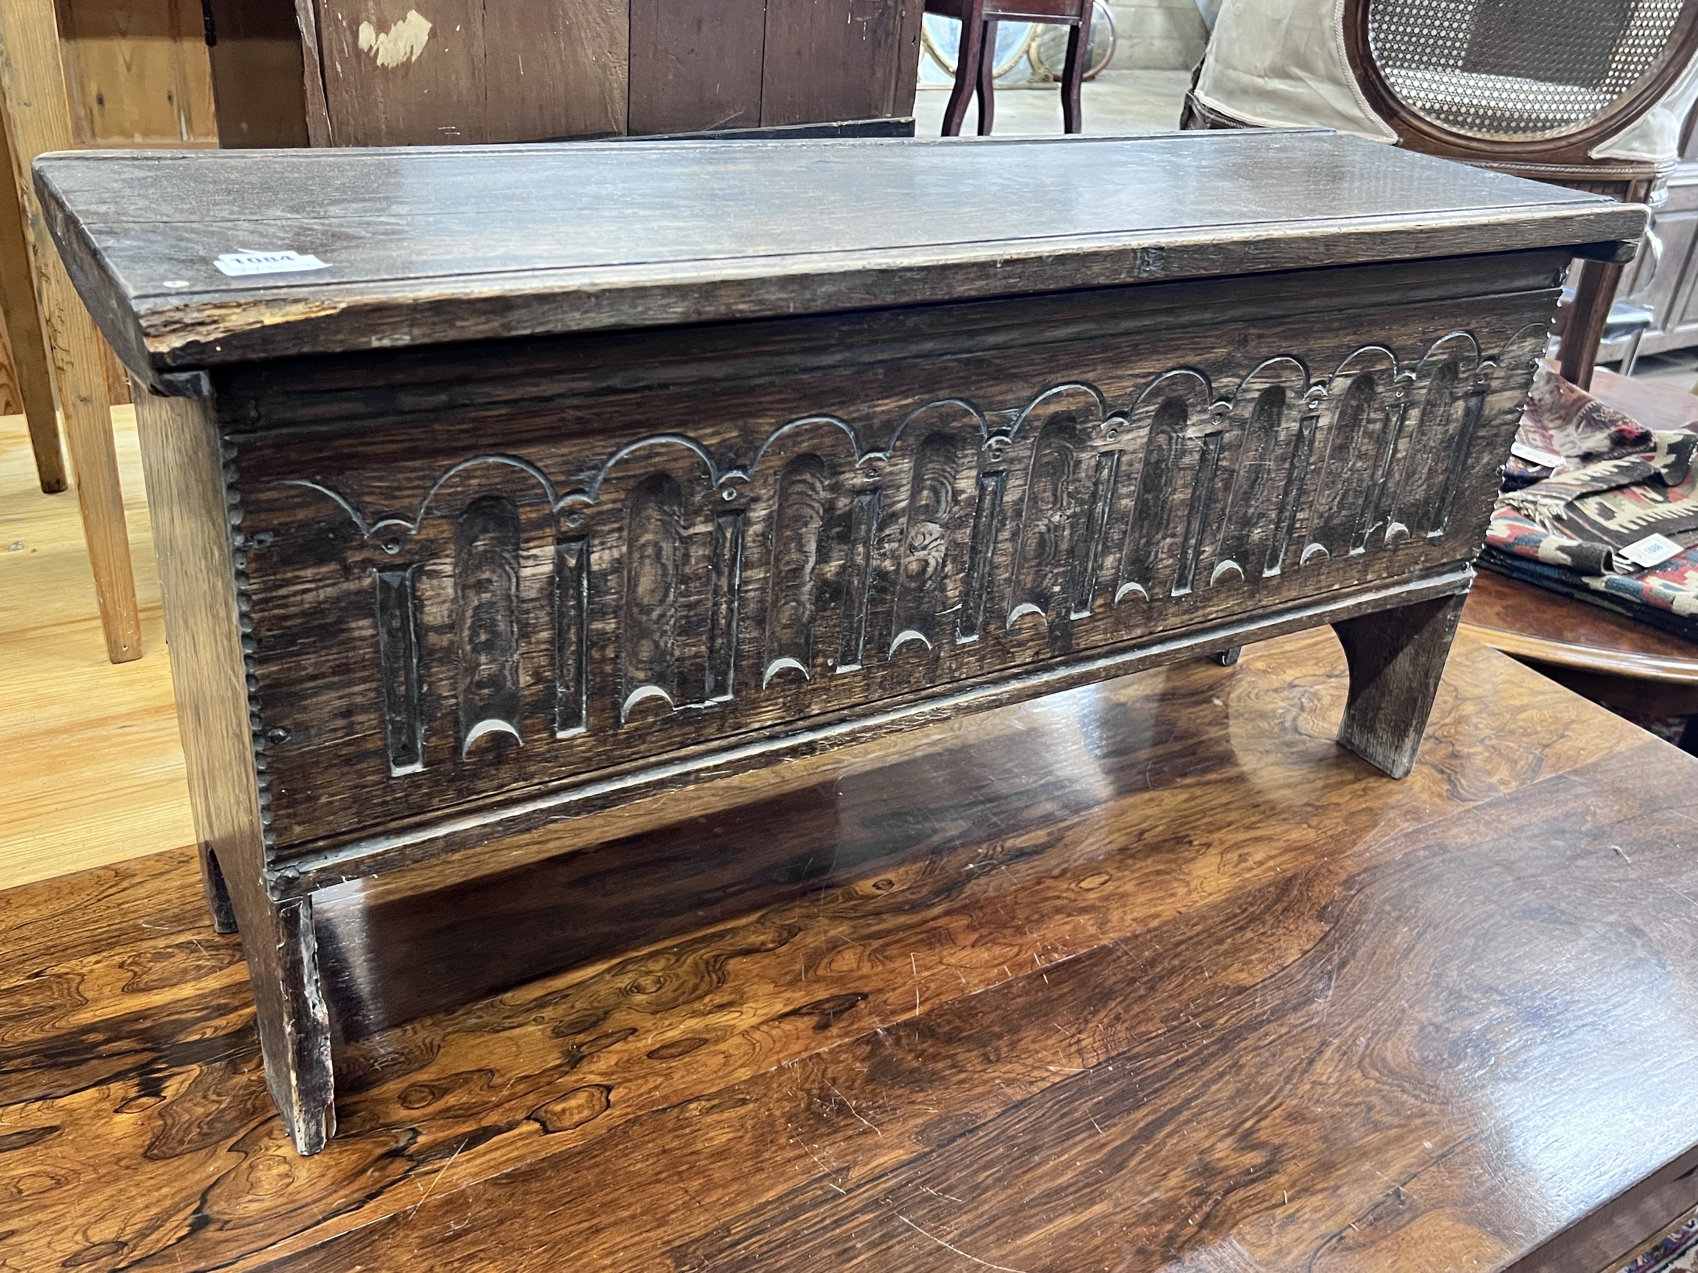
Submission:
M 1698 1195 L 1698 760 L 1462 636 L 1394 782 L 1345 689 L 1309 631 L 326 894 L 311 1159 L 192 849 L 0 893 L 0 1268 L 1606 1270 Z

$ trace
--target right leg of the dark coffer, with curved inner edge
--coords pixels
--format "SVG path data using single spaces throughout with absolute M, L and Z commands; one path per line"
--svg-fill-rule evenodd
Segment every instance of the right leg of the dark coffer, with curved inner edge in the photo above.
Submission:
M 1350 664 L 1338 742 L 1392 777 L 1414 767 L 1465 601 L 1435 597 L 1333 625 Z

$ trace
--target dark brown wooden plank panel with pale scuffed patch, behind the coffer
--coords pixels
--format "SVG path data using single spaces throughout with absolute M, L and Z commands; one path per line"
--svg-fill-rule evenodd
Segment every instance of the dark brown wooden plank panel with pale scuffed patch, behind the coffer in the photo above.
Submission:
M 275 0 L 267 0 L 275 3 Z M 301 0 L 335 146 L 902 117 L 920 0 Z

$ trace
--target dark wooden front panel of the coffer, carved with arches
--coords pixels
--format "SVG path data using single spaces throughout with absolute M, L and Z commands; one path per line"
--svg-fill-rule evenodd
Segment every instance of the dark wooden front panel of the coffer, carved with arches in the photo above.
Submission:
M 1547 309 L 231 436 L 273 847 L 1467 560 Z

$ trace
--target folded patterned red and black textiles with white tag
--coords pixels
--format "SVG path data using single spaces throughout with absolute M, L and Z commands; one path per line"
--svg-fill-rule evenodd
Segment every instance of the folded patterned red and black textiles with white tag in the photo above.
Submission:
M 1542 368 L 1481 565 L 1698 642 L 1690 428 L 1647 429 Z

